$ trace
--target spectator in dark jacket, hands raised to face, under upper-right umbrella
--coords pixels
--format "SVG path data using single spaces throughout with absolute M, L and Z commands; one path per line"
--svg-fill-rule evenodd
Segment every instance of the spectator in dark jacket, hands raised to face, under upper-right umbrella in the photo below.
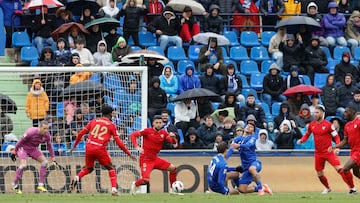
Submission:
M 297 41 L 293 34 L 284 35 L 284 38 L 279 44 L 279 50 L 283 53 L 283 71 L 289 72 L 293 65 L 298 66 L 299 74 L 305 74 L 306 71 L 302 66 L 302 53 L 305 46 L 303 44 L 301 35 L 297 35 Z

